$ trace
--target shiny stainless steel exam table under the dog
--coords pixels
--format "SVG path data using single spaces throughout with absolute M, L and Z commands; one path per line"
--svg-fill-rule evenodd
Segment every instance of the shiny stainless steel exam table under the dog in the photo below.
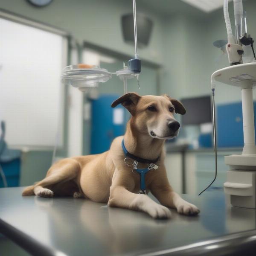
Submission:
M 172 219 L 154 220 L 86 199 L 22 197 L 22 189 L 0 189 L 0 233 L 32 255 L 256 255 L 256 211 L 226 205 L 223 191 L 183 195 L 199 216 L 172 209 Z

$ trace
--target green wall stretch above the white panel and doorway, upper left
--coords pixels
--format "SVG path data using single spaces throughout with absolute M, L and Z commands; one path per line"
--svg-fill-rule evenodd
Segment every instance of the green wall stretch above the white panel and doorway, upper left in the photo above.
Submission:
M 162 63 L 163 26 L 161 17 L 137 1 L 137 12 L 146 13 L 154 22 L 148 47 L 140 49 L 140 57 Z M 125 54 L 134 54 L 134 46 L 122 39 L 121 17 L 132 13 L 131 0 L 53 0 L 37 8 L 27 0 L 2 0 L 0 8 L 18 15 L 57 26 L 70 32 L 79 42 L 88 41 Z

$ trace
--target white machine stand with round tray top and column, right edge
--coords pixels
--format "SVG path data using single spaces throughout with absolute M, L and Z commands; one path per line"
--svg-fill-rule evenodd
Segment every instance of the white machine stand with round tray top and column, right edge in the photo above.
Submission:
M 225 67 L 212 74 L 212 79 L 241 88 L 244 148 L 242 154 L 225 156 L 230 166 L 225 193 L 236 207 L 256 208 L 256 145 L 253 111 L 253 86 L 256 85 L 256 62 Z

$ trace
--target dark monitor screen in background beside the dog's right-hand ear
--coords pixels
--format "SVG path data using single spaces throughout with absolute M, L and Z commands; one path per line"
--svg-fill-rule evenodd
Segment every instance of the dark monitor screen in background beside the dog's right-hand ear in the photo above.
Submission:
M 182 125 L 212 122 L 210 96 L 182 99 L 181 102 L 186 108 L 186 114 L 182 115 L 181 119 Z

